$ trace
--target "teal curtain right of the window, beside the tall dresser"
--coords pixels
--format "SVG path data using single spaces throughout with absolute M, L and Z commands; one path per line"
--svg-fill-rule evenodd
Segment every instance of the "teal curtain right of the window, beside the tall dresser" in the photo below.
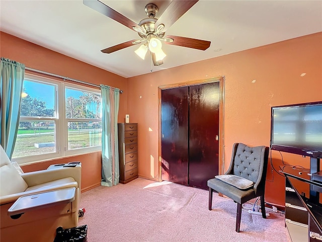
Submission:
M 102 92 L 102 181 L 101 185 L 112 187 L 119 183 L 119 148 L 117 116 L 120 89 L 101 85 Z

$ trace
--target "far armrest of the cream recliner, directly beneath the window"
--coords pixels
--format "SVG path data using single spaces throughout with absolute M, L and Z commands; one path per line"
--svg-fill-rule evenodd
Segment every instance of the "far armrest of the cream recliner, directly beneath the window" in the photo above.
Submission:
M 49 181 L 58 180 L 66 177 L 72 177 L 81 188 L 82 167 L 62 167 L 58 169 L 39 170 L 21 174 L 28 187 L 48 183 Z

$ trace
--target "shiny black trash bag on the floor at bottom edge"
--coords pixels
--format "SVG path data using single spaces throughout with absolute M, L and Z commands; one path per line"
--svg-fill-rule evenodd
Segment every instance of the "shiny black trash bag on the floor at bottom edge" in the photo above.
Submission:
M 66 229 L 58 227 L 54 242 L 87 242 L 87 225 Z

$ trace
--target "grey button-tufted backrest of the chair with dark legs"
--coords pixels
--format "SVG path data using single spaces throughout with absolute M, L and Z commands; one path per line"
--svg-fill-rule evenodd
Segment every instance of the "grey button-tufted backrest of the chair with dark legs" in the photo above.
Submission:
M 226 174 L 244 177 L 255 183 L 254 190 L 264 193 L 268 163 L 268 147 L 249 147 L 235 143 L 232 149 L 231 163 Z

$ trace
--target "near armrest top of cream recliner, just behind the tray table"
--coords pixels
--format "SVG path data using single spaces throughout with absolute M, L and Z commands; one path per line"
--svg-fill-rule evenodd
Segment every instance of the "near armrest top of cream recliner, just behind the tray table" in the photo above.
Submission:
M 65 189 L 65 188 L 76 188 L 77 189 L 78 184 L 76 183 L 76 181 L 74 181 L 73 183 L 60 184 L 60 185 L 40 188 L 37 190 L 31 190 L 31 191 L 27 191 L 27 192 L 2 196 L 2 197 L 0 197 L 0 205 L 4 205 L 7 203 L 14 203 L 21 196 L 37 194 L 37 193 L 42 193 L 42 192 L 48 192 L 48 191 L 53 191 L 53 190 L 59 190 L 59 189 Z

